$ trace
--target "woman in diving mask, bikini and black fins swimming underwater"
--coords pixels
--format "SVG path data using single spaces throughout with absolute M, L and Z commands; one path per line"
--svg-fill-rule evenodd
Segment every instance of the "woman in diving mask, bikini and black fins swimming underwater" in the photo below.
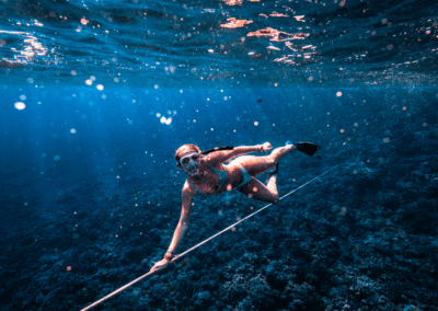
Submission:
M 164 258 L 155 263 L 151 270 L 164 269 L 172 261 L 178 244 L 188 229 L 192 200 L 195 196 L 219 195 L 227 191 L 238 189 L 249 197 L 262 201 L 278 203 L 278 161 L 288 152 L 297 149 L 312 156 L 320 147 L 309 142 L 292 145 L 288 141 L 285 147 L 277 148 L 269 156 L 264 157 L 239 156 L 254 151 L 266 152 L 272 150 L 273 147 L 269 142 L 230 149 L 232 150 L 208 150 L 200 152 L 199 148 L 195 145 L 184 145 L 176 150 L 176 166 L 188 175 L 183 186 L 183 208 L 180 222 L 176 226 Z M 228 164 L 223 164 L 229 160 L 231 161 Z M 274 168 L 275 170 L 273 170 Z M 269 178 L 266 185 L 254 178 L 254 176 L 267 171 L 269 171 Z

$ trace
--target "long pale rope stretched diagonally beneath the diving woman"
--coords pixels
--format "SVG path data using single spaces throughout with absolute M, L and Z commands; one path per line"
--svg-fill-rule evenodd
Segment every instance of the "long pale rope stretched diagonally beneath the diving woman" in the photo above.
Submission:
M 307 182 L 306 184 L 303 184 L 303 185 L 299 186 L 298 188 L 296 188 L 296 189 L 291 191 L 290 193 L 288 193 L 288 194 L 284 195 L 284 196 L 283 196 L 283 197 L 280 197 L 278 200 L 280 200 L 280 199 L 284 199 L 285 197 L 287 197 L 287 196 L 291 195 L 292 193 L 295 193 L 295 192 L 299 191 L 300 188 L 302 188 L 302 187 L 304 187 L 304 186 L 309 185 L 310 183 L 312 183 L 313 181 L 318 180 L 319 177 L 321 177 L 321 176 L 325 175 L 326 173 L 328 173 L 328 172 L 333 171 L 335 168 L 336 168 L 336 166 L 334 166 L 334 168 L 330 169 L 328 171 L 325 171 L 325 172 L 324 172 L 324 173 L 322 173 L 321 175 L 318 175 L 318 176 L 316 176 L 316 177 L 314 177 L 313 180 L 311 180 L 311 181 Z M 249 218 L 253 217 L 253 216 L 254 216 L 254 215 L 256 215 L 257 212 L 261 212 L 262 210 L 264 210 L 264 209 L 268 208 L 268 207 L 269 207 L 269 206 L 272 206 L 272 205 L 273 205 L 273 204 L 270 203 L 270 204 L 268 204 L 268 205 L 266 205 L 266 206 L 262 207 L 261 209 L 258 209 L 258 210 L 254 211 L 253 214 L 251 214 L 251 215 L 246 216 L 245 218 L 243 218 L 243 219 L 239 220 L 238 222 L 235 222 L 235 223 L 231 224 L 230 227 L 227 227 L 226 229 L 223 229 L 222 231 L 220 231 L 220 232 L 216 233 L 215 235 L 211 235 L 211 237 L 210 237 L 210 238 L 208 238 L 207 240 L 204 240 L 204 241 L 203 241 L 203 242 L 200 242 L 199 244 L 196 244 L 196 245 L 195 245 L 195 246 L 193 246 L 192 249 L 188 249 L 187 251 L 185 251 L 185 252 L 181 253 L 180 255 L 176 255 L 176 256 L 174 256 L 174 257 L 172 258 L 171 263 L 172 263 L 172 262 L 174 262 L 174 261 L 176 261 L 176 260 L 178 260 L 178 258 L 181 258 L 182 256 L 184 256 L 184 255 L 188 254 L 189 252 L 192 252 L 193 250 L 195 250 L 195 249 L 199 247 L 200 245 L 203 245 L 203 244 L 207 243 L 208 241 L 210 241 L 210 240 L 215 239 L 216 237 L 218 237 L 218 235 L 222 234 L 223 232 L 226 232 L 226 231 L 230 230 L 231 228 L 233 228 L 234 226 L 237 226 L 237 224 L 241 223 L 242 221 L 245 221 L 246 219 L 249 219 Z M 110 299 L 111 297 L 113 297 L 113 296 L 115 296 L 115 295 L 119 293 L 120 291 L 123 291 L 123 290 L 127 289 L 128 287 L 132 286 L 134 284 L 138 283 L 139 280 L 143 279 L 145 277 L 147 277 L 147 276 L 149 276 L 149 275 L 151 275 L 151 274 L 153 274 L 153 273 L 154 273 L 154 272 L 149 272 L 149 273 L 147 273 L 147 274 L 145 274 L 145 275 L 142 275 L 142 276 L 140 276 L 140 277 L 138 277 L 138 278 L 136 278 L 135 280 L 132 280 L 132 281 L 128 283 L 127 285 L 125 285 L 125 286 L 120 287 L 119 289 L 116 289 L 115 291 L 111 292 L 110 295 L 105 296 L 104 298 L 101 298 L 101 299 L 99 299 L 97 301 L 93 302 L 93 303 L 92 303 L 92 304 L 90 304 L 89 307 L 85 307 L 85 308 L 83 308 L 81 311 L 90 310 L 91 308 L 93 308 L 93 307 L 97 306 L 99 303 L 101 303 L 101 302 L 103 302 L 103 301 L 105 301 L 105 300 Z

